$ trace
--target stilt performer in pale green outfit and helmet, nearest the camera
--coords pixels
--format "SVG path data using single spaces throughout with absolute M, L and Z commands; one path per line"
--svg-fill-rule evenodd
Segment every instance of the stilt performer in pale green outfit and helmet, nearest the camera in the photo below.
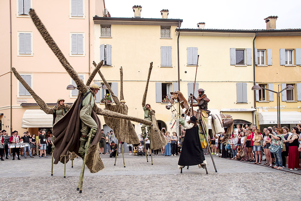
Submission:
M 82 129 L 80 130 L 82 135 L 80 137 L 80 147 L 79 147 L 79 153 L 84 153 L 85 152 L 85 142 L 87 141 L 88 137 L 88 131 L 89 127 L 90 133 L 92 138 L 95 137 L 95 134 L 97 132 L 98 126 L 94 119 L 91 117 L 92 114 L 92 108 L 96 99 L 96 94 L 99 90 L 99 86 L 97 84 L 92 84 L 90 86 L 90 90 L 87 90 L 83 94 L 83 98 L 81 100 L 80 106 L 82 107 L 80 112 L 79 112 L 79 118 L 82 121 Z

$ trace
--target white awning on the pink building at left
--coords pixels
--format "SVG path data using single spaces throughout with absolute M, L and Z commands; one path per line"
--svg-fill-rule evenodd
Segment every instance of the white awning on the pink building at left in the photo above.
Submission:
M 47 115 L 40 109 L 28 109 L 22 118 L 22 128 L 51 128 L 53 115 Z

